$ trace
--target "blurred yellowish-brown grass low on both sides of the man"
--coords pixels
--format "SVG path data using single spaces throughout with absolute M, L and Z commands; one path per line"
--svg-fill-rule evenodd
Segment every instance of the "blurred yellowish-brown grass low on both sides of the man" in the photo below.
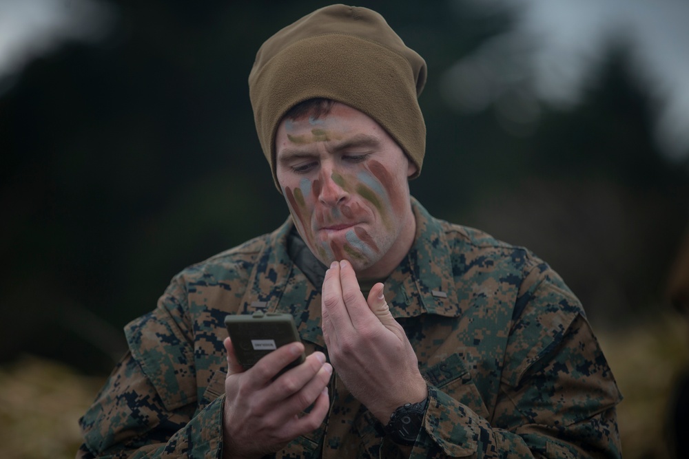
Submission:
M 686 323 L 679 316 L 619 330 L 597 330 L 624 401 L 618 418 L 624 458 L 668 458 L 666 412 L 677 376 L 689 368 Z M 54 361 L 23 356 L 0 367 L 0 457 L 72 458 L 77 420 L 102 378 Z

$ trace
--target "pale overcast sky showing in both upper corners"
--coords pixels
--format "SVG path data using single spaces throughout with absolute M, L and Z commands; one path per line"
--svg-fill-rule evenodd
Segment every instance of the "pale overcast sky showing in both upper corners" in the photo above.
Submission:
M 641 83 L 665 101 L 656 118 L 662 151 L 689 153 L 689 0 L 457 1 L 521 15 L 513 32 L 442 76 L 449 103 L 465 111 L 497 103 L 506 129 L 528 134 L 540 103 L 577 103 L 604 43 L 622 38 Z M 99 39 L 114 17 L 101 0 L 0 0 L 0 78 L 21 77 L 26 63 L 67 41 Z

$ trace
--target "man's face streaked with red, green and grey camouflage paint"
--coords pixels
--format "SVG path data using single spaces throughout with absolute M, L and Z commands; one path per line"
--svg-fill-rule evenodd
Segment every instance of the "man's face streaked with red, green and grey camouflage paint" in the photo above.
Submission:
M 407 178 L 416 167 L 369 116 L 340 103 L 283 119 L 276 172 L 297 229 L 324 264 L 347 259 L 362 278 L 389 275 L 415 234 Z

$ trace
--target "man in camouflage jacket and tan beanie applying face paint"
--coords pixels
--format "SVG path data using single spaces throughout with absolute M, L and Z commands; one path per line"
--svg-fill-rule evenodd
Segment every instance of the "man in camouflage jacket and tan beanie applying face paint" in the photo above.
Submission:
M 81 456 L 620 456 L 619 392 L 575 296 L 410 197 L 425 78 L 365 8 L 264 43 L 251 103 L 291 218 L 187 268 L 127 325 Z M 292 314 L 303 344 L 245 371 L 223 318 L 256 310 Z

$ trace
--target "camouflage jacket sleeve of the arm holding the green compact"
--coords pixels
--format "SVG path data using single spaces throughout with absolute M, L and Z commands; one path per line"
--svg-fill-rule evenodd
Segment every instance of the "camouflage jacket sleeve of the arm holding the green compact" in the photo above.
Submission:
M 173 283 L 158 308 L 125 328 L 130 350 L 79 420 L 77 457 L 220 457 L 224 397 L 198 400 L 181 289 Z

